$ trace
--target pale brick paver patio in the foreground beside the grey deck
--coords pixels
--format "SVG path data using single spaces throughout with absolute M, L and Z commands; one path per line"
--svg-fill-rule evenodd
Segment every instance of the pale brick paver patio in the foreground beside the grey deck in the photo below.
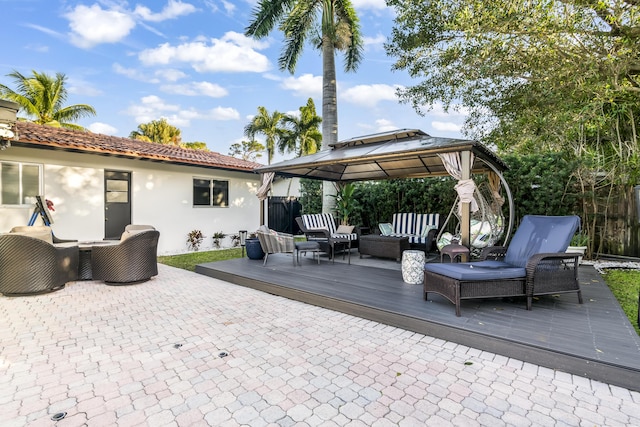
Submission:
M 640 425 L 638 392 L 159 270 L 0 297 L 0 425 Z

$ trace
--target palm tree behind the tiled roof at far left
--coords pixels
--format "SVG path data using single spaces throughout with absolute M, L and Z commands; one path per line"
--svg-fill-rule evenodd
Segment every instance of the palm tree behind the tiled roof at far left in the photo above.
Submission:
M 85 130 L 84 127 L 72 123 L 85 116 L 95 116 L 96 110 L 87 104 L 65 106 L 67 77 L 56 73 L 55 78 L 45 73 L 32 71 L 33 76 L 27 77 L 13 71 L 7 74 L 16 83 L 16 90 L 0 84 L 0 97 L 16 102 L 28 118 L 34 123 L 64 127 L 68 129 Z

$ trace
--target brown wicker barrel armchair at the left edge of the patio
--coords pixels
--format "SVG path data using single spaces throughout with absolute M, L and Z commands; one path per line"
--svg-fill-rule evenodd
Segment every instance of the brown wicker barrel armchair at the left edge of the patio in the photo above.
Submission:
M 0 235 L 0 293 L 34 295 L 78 279 L 78 246 L 56 247 L 18 233 Z

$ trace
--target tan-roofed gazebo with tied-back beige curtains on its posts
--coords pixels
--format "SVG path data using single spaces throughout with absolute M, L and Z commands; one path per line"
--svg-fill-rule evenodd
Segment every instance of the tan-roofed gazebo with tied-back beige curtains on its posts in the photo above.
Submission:
M 275 174 L 323 181 L 353 182 L 451 175 L 458 184 L 461 243 L 470 244 L 473 174 L 488 174 L 492 193 L 502 187 L 509 206 L 504 234 L 513 227 L 513 198 L 502 172 L 507 165 L 491 150 L 473 140 L 439 138 L 419 129 L 400 129 L 339 141 L 327 150 L 257 168 L 263 175 L 258 197 L 266 197 Z

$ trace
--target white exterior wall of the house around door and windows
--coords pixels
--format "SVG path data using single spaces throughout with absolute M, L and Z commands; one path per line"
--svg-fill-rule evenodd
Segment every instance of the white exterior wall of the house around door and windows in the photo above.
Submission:
M 44 165 L 43 195 L 54 203 L 52 227 L 62 239 L 104 238 L 104 170 L 131 172 L 131 222 L 160 231 L 158 254 L 187 252 L 187 234 L 199 229 L 205 236 L 200 250 L 213 247 L 211 235 L 237 234 L 260 225 L 260 202 L 255 196 L 260 175 L 84 153 L 11 147 L 2 161 Z M 194 207 L 193 178 L 229 182 L 229 207 Z M 0 232 L 26 225 L 34 206 L 0 206 Z M 40 220 L 39 220 L 40 221 Z M 231 246 L 225 238 L 223 247 Z

